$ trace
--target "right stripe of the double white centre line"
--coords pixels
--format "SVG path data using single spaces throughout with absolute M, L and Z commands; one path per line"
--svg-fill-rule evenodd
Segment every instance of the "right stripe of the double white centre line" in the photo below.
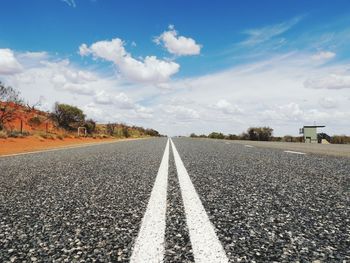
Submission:
M 209 221 L 208 215 L 205 212 L 202 202 L 199 199 L 173 141 L 171 139 L 170 141 L 173 148 L 195 262 L 226 263 L 228 262 L 228 258 L 216 236 L 214 226 Z

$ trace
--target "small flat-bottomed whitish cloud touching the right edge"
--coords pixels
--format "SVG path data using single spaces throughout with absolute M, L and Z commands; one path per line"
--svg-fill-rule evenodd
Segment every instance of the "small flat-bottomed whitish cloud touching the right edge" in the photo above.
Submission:
M 350 76 L 345 74 L 329 74 L 326 77 L 308 79 L 304 82 L 304 86 L 311 89 L 349 89 Z

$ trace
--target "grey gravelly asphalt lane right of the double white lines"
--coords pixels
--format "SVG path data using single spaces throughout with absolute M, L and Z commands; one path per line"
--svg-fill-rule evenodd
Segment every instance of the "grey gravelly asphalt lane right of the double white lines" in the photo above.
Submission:
M 348 262 L 350 159 L 174 143 L 231 262 Z

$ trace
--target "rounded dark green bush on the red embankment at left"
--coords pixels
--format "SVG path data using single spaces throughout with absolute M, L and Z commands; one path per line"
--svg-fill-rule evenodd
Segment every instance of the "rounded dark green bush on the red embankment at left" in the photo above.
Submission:
M 85 115 L 78 107 L 55 103 L 54 111 L 51 114 L 59 127 L 66 130 L 76 130 L 79 126 L 83 126 Z

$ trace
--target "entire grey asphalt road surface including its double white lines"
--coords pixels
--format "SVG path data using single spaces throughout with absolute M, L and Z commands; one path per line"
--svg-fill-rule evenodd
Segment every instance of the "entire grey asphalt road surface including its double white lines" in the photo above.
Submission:
M 188 138 L 2 157 L 0 262 L 350 262 L 350 159 Z

